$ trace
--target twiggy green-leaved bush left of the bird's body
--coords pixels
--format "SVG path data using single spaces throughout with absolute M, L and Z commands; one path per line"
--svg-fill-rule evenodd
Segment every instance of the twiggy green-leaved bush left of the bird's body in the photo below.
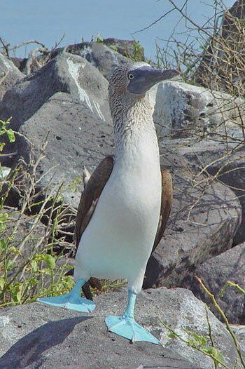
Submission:
M 1 121 L 0 135 L 6 134 L 13 142 L 8 123 Z M 66 228 L 75 214 L 61 201 L 62 186 L 48 185 L 42 196 L 38 190 L 36 168 L 44 149 L 36 161 L 31 160 L 29 166 L 21 162 L 1 181 L 0 307 L 66 293 L 73 286 L 72 277 L 66 276 L 71 267 L 62 250 L 68 247 Z M 6 205 L 10 189 L 20 196 L 19 208 Z

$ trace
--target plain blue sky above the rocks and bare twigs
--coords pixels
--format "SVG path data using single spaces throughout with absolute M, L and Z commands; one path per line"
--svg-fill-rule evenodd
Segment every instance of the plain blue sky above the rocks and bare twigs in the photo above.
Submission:
M 181 6 L 184 0 L 175 0 Z M 232 6 L 235 0 L 223 0 L 225 6 Z M 186 11 L 191 18 L 202 25 L 213 11 L 213 0 L 188 0 Z M 14 46 L 22 41 L 36 39 L 48 48 L 65 34 L 61 46 L 70 43 L 90 41 L 92 36 L 104 39 L 135 39 L 145 49 L 147 58 L 155 59 L 155 41 L 168 39 L 176 27 L 177 37 L 185 29 L 185 22 L 179 22 L 177 11 L 142 32 L 172 6 L 169 0 L 0 0 L 1 38 Z M 137 32 L 137 33 L 135 33 Z M 183 37 L 183 36 L 182 36 Z M 27 56 L 35 46 L 22 47 L 16 56 Z

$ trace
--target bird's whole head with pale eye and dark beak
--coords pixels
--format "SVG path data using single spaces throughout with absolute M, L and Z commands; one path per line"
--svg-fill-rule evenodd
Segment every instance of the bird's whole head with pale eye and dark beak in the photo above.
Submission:
M 160 81 L 178 75 L 174 69 L 154 69 L 146 62 L 128 62 L 117 67 L 109 82 L 110 95 L 131 95 L 144 98 L 146 92 Z

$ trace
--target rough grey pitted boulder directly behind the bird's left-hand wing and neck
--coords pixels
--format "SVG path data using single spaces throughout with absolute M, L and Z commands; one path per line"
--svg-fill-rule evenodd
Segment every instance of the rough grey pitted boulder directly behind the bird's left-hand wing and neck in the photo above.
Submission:
M 52 185 L 59 187 L 64 182 L 64 200 L 75 208 L 83 184 L 83 167 L 94 170 L 104 156 L 111 154 L 112 130 L 92 112 L 87 102 L 74 103 L 67 93 L 53 95 L 20 128 L 31 140 L 36 156 L 43 137 L 49 132 L 45 157 L 38 166 L 38 172 L 46 174 L 39 185 L 44 188 L 52 180 Z M 19 140 L 18 149 L 19 156 L 28 160 L 28 141 Z

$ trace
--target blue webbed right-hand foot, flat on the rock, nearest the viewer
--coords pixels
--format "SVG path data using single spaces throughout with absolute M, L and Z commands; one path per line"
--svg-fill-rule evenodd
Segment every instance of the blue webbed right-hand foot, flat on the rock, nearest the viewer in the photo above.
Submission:
M 106 326 L 111 332 L 132 340 L 132 342 L 147 341 L 160 344 L 151 333 L 134 321 L 134 318 L 129 316 L 107 316 Z

